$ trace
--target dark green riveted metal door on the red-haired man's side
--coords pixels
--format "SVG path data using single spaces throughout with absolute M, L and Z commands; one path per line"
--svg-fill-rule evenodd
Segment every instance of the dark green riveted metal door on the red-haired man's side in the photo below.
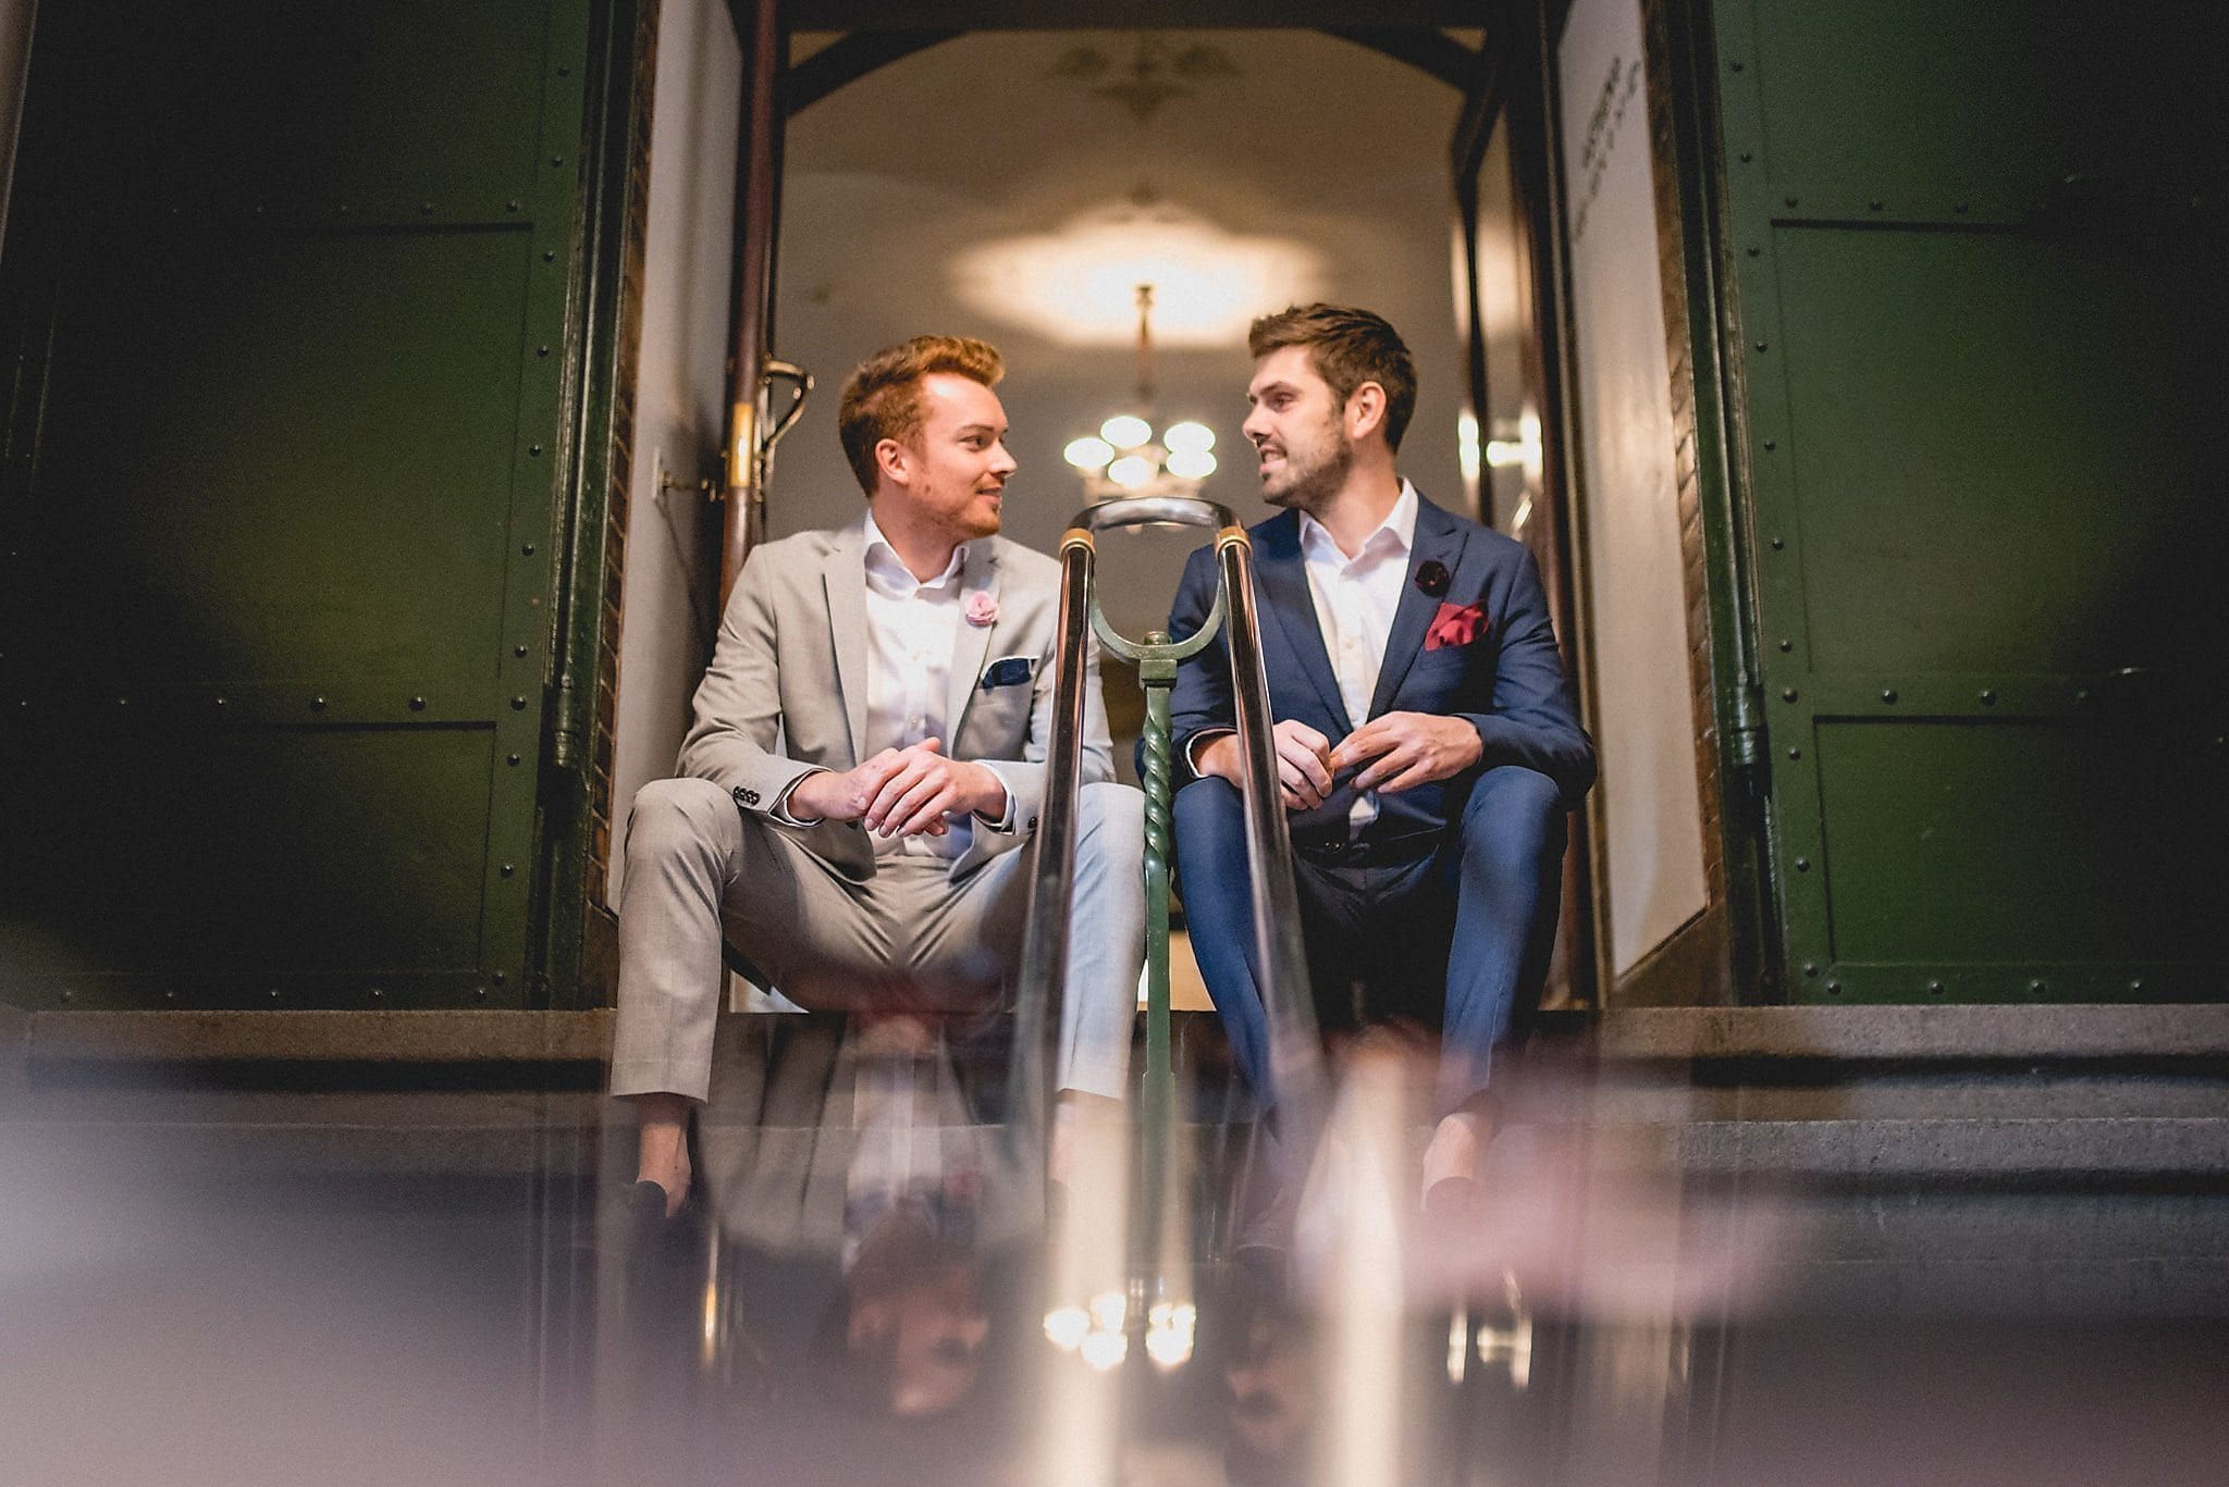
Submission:
M 526 1003 L 591 51 L 588 0 L 40 9 L 11 1001 Z

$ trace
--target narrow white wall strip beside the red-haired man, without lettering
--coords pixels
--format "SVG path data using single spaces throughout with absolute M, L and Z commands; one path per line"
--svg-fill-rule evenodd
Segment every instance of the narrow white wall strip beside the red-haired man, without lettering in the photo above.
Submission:
M 673 774 L 689 696 L 711 655 L 718 546 L 704 497 L 727 417 L 729 245 L 742 51 L 722 0 L 666 0 L 658 25 L 651 114 L 642 354 L 635 381 L 633 486 L 620 626 L 620 702 L 611 760 L 613 852 L 606 903 L 620 901 L 626 811 L 646 780 Z M 660 470 L 682 482 L 660 490 Z

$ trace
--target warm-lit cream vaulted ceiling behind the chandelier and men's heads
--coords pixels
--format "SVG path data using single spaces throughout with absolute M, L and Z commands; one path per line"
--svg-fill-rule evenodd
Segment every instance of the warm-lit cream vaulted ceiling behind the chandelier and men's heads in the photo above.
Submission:
M 834 40 L 800 36 L 794 56 Z M 858 511 L 836 383 L 878 346 L 954 330 L 1008 357 L 1023 466 L 1008 533 L 1050 548 L 1083 504 L 1061 448 L 1137 401 L 1121 301 L 1141 274 L 1161 281 L 1157 412 L 1219 435 L 1206 495 L 1262 513 L 1237 435 L 1244 323 L 1324 297 L 1371 305 L 1409 339 L 1422 397 L 1404 466 L 1460 502 L 1458 107 L 1413 65 L 1293 29 L 976 31 L 811 103 L 789 120 L 776 352 L 823 392 L 782 444 L 771 526 Z M 1114 555 L 1108 566 L 1121 571 Z M 1110 613 L 1139 631 L 1159 622 L 1172 568 L 1150 557 L 1110 586 Z

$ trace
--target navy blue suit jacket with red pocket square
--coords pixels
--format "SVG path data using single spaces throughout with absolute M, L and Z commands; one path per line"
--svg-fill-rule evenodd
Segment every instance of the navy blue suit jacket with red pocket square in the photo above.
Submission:
M 1255 557 L 1255 595 L 1262 611 L 1262 662 L 1268 676 L 1273 720 L 1306 722 L 1333 745 L 1366 718 L 1349 718 L 1340 682 L 1324 651 L 1315 620 L 1315 597 L 1300 553 L 1300 515 L 1284 511 L 1248 528 Z M 1424 593 L 1418 571 L 1447 568 L 1444 593 Z M 1195 633 L 1215 609 L 1215 548 L 1193 553 L 1170 611 L 1175 638 Z M 1476 604 L 1485 626 L 1469 644 L 1424 649 L 1427 631 L 1442 604 Z M 1440 829 L 1462 814 L 1471 785 L 1496 765 L 1525 765 L 1549 776 L 1567 807 L 1578 805 L 1594 783 L 1594 740 L 1578 725 L 1571 684 L 1563 673 L 1556 633 L 1547 618 L 1540 568 L 1522 542 L 1478 522 L 1418 499 L 1409 582 L 1402 586 L 1371 718 L 1382 713 L 1438 713 L 1462 718 L 1485 745 L 1478 765 L 1433 785 L 1378 796 L 1371 838 Z M 1201 729 L 1237 725 L 1230 707 L 1228 635 L 1177 671 L 1170 698 L 1177 785 L 1193 776 L 1186 765 Z M 1355 794 L 1355 771 L 1342 771 L 1333 794 L 1313 811 L 1288 820 L 1295 840 L 1344 838 Z

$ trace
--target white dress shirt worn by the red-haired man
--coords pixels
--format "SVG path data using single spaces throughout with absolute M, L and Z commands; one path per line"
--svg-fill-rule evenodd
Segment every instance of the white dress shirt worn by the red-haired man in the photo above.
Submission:
M 967 564 L 967 546 L 963 542 L 952 548 L 945 571 L 923 582 L 889 546 L 874 517 L 867 517 L 867 736 L 860 738 L 860 760 L 923 738 L 936 738 L 952 754 L 954 720 L 945 718 L 945 696 L 952 647 L 963 622 L 961 568 Z M 983 767 L 999 774 L 996 765 Z M 1008 794 L 1005 814 L 1012 809 L 1014 798 Z M 950 829 L 943 836 L 876 836 L 874 849 L 878 856 L 954 858 L 967 852 L 974 820 L 945 820 Z M 1003 818 L 990 825 L 1003 825 Z

